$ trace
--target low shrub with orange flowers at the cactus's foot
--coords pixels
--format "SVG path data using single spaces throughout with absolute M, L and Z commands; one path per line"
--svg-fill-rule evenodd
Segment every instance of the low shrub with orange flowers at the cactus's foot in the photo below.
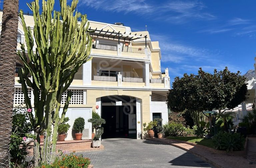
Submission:
M 84 158 L 83 155 L 74 155 L 74 153 L 60 154 L 52 164 L 43 164 L 41 168 L 87 168 L 91 161 L 89 158 Z

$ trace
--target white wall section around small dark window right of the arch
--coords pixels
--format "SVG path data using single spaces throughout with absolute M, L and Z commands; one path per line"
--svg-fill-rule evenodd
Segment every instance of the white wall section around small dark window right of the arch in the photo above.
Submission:
M 162 124 L 168 123 L 168 108 L 166 102 L 150 101 L 150 120 L 153 120 L 152 113 L 162 113 Z

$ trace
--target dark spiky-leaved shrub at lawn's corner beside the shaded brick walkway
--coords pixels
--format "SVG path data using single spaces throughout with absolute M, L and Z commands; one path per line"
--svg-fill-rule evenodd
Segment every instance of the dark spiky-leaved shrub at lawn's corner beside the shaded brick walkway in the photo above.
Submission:
M 245 138 L 240 133 L 219 132 L 213 137 L 214 148 L 217 150 L 239 151 L 244 148 Z

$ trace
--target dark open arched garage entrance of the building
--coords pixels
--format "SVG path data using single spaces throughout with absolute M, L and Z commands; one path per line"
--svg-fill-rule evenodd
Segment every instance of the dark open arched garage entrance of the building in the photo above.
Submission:
M 136 139 L 136 98 L 130 96 L 101 97 L 102 138 Z

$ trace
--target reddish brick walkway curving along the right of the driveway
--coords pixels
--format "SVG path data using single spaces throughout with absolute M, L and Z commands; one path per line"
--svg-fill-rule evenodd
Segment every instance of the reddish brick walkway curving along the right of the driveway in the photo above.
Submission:
M 246 156 L 228 156 L 223 154 L 212 153 L 211 151 L 201 148 L 200 146 L 192 146 L 186 143 L 181 143 L 180 141 L 175 141 L 171 139 L 149 139 L 149 141 L 157 141 L 159 143 L 172 145 L 188 151 L 201 159 L 211 163 L 216 168 L 256 168 L 255 164 L 249 164 L 251 160 L 255 161 L 256 152 L 256 139 L 249 138 L 249 146 L 251 148 L 248 153 L 248 159 Z M 250 143 L 251 142 L 251 143 Z

